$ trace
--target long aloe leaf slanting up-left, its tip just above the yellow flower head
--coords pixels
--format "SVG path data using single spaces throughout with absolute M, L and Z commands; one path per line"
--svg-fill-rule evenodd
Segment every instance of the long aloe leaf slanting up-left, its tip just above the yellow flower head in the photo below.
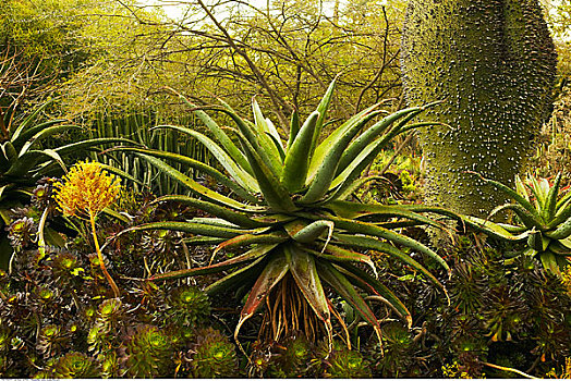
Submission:
M 212 202 L 216 202 L 216 204 L 220 204 L 220 205 L 224 205 L 227 207 L 234 208 L 234 209 L 241 210 L 241 211 L 246 211 L 246 212 L 256 212 L 256 211 L 265 210 L 265 208 L 248 206 L 248 205 L 239 202 L 239 201 L 236 201 L 236 200 L 234 200 L 234 199 L 232 199 L 230 197 L 222 196 L 222 195 L 220 195 L 220 194 L 218 194 L 218 193 L 207 188 L 206 186 L 198 184 L 197 182 L 195 182 L 194 180 L 192 180 L 187 175 L 177 171 L 174 168 L 172 168 L 169 164 L 165 163 L 162 160 L 159 160 L 159 159 L 154 158 L 154 157 L 148 156 L 148 155 L 143 155 L 143 153 L 137 153 L 137 155 L 139 155 L 145 160 L 147 160 L 150 164 L 153 164 L 154 167 L 156 167 L 157 169 L 162 171 L 169 177 L 171 177 L 171 179 L 178 181 L 179 183 L 181 183 L 182 185 L 186 186 L 189 188 L 189 190 L 191 190 L 195 195 L 204 197 L 204 198 L 206 198 L 209 201 L 212 201 Z

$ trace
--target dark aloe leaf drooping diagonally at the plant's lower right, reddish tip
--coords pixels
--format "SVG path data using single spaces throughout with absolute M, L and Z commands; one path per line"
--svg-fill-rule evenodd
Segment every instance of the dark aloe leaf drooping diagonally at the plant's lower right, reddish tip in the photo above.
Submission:
M 360 268 L 350 265 L 348 262 L 339 263 L 339 271 L 347 275 L 349 282 L 353 283 L 357 287 L 364 290 L 367 293 L 375 294 L 385 298 L 391 308 L 406 321 L 409 328 L 412 327 L 412 315 L 404 306 L 404 304 L 399 299 L 399 297 L 390 291 L 387 286 L 380 283 L 375 278 L 367 274 L 365 271 Z M 344 271 L 343 271 L 344 270 Z

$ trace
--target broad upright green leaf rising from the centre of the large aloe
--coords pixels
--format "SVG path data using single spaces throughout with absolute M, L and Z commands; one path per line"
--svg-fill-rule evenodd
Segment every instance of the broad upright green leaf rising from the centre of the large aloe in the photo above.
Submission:
M 312 138 L 318 119 L 317 111 L 307 118 L 286 156 L 280 181 L 292 193 L 300 190 L 305 184 L 309 164 L 307 158 L 311 153 Z

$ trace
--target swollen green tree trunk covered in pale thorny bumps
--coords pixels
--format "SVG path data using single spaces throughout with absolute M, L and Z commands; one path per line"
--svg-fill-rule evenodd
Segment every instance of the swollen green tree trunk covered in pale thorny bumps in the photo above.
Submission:
M 410 105 L 444 100 L 421 131 L 430 202 L 485 217 L 549 113 L 557 56 L 537 0 L 413 0 L 403 30 Z

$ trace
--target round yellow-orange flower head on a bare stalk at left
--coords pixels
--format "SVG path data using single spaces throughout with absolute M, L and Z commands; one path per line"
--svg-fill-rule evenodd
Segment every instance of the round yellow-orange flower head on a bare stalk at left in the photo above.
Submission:
M 80 161 L 54 186 L 59 209 L 65 216 L 80 218 L 97 216 L 121 192 L 121 181 L 93 161 Z

